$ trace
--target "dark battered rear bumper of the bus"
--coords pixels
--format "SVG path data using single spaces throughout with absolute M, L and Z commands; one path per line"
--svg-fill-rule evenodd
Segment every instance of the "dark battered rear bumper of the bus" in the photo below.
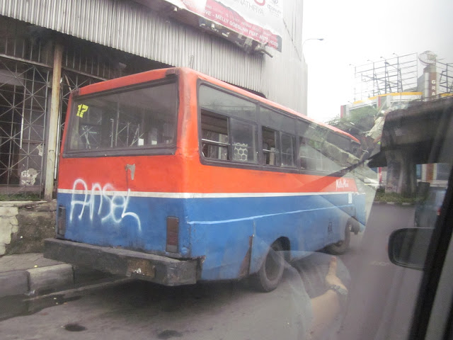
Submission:
M 166 256 L 126 249 L 45 239 L 44 257 L 78 266 L 148 280 L 161 285 L 190 285 L 197 282 L 197 260 L 178 260 Z

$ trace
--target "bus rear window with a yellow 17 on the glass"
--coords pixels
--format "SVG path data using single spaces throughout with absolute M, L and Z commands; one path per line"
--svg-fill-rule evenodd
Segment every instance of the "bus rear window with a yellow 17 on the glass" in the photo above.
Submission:
M 173 146 L 177 105 L 176 83 L 76 98 L 68 151 Z

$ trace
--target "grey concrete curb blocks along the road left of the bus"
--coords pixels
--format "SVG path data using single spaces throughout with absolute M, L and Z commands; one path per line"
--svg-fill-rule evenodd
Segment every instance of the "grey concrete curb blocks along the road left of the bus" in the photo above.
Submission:
M 21 271 L 6 271 L 0 273 L 0 298 L 23 294 L 44 295 L 113 281 L 117 278 L 117 276 L 67 263 Z

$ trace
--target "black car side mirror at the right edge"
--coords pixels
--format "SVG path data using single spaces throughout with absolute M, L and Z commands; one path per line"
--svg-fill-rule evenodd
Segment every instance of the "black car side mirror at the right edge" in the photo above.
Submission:
M 389 237 L 389 259 L 398 266 L 423 270 L 432 228 L 403 228 Z

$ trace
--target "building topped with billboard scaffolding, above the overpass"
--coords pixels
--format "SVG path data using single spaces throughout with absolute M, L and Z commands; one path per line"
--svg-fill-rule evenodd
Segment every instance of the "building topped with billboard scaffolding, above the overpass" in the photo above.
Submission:
M 354 100 L 341 106 L 340 117 L 365 106 L 379 111 L 396 110 L 413 101 L 452 95 L 453 64 L 437 61 L 436 57 L 425 51 L 355 66 Z M 423 71 L 419 76 L 420 66 Z

